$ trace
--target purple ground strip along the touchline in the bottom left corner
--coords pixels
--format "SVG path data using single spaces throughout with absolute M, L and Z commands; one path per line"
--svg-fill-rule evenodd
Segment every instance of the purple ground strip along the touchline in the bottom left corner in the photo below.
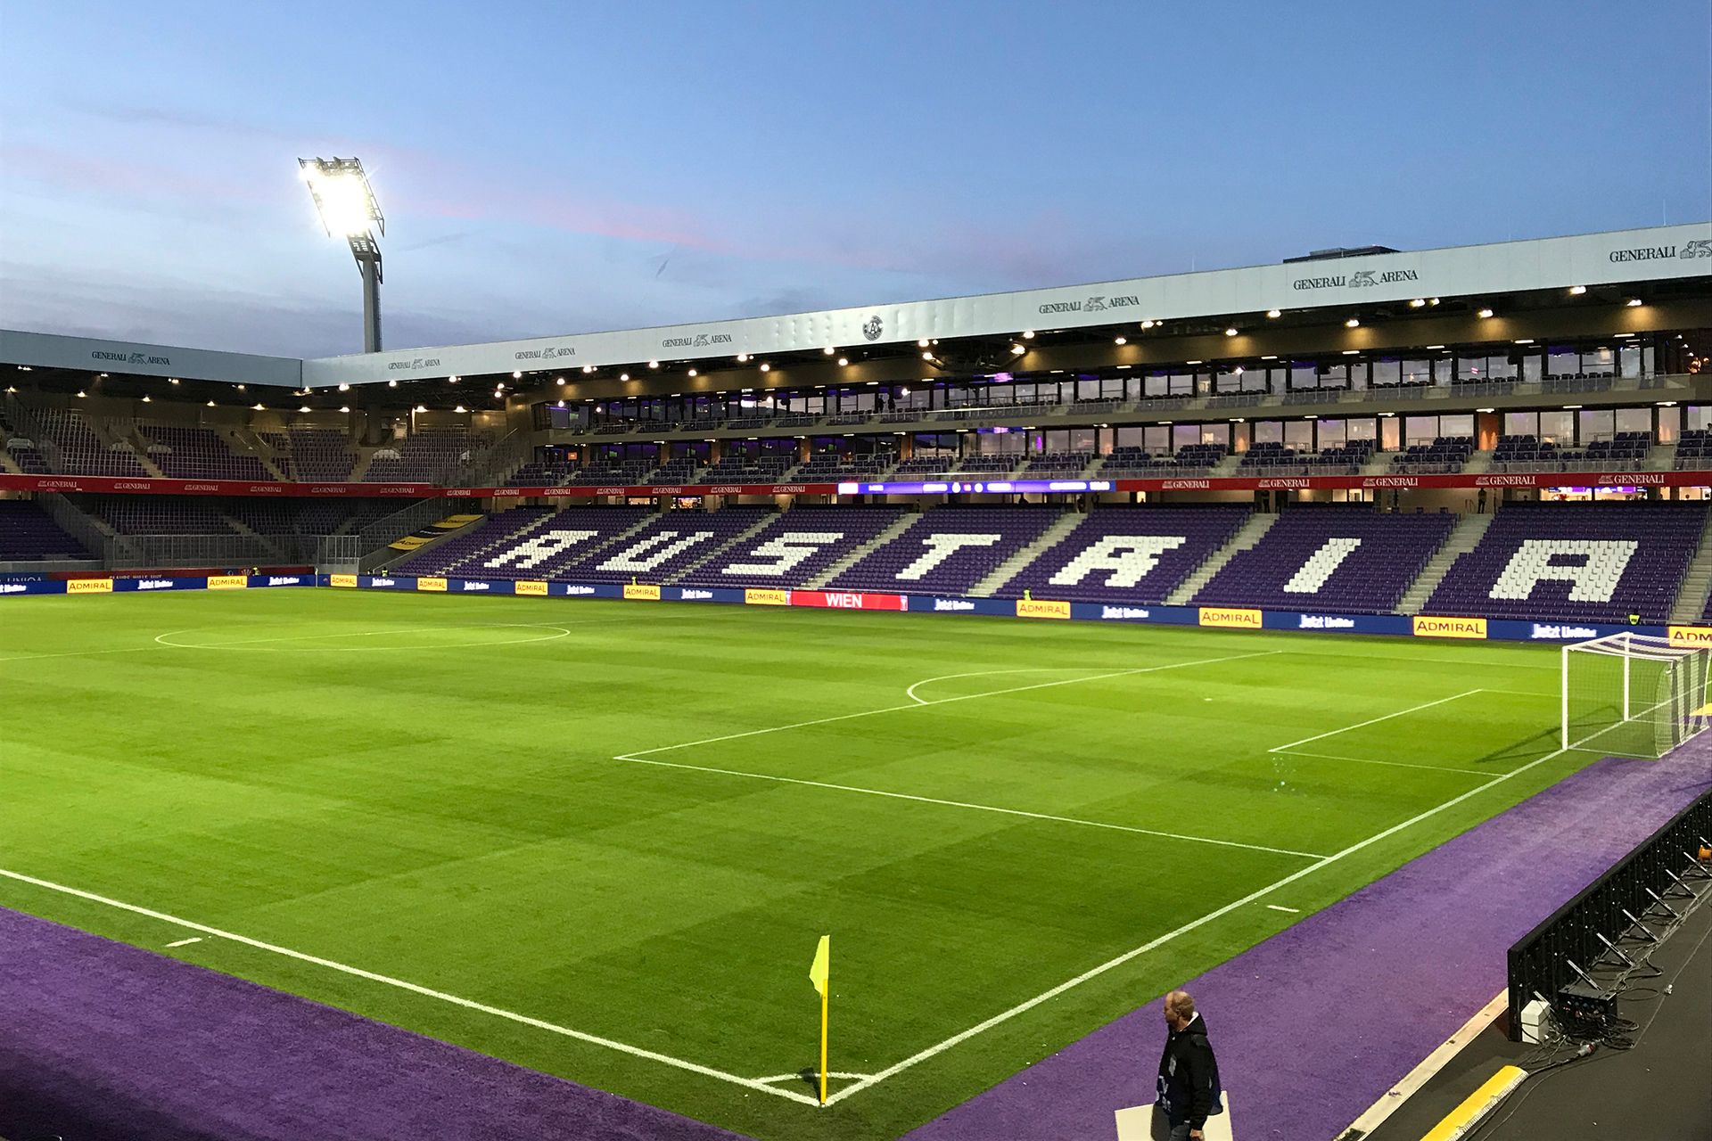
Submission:
M 741 1141 L 3 908 L 0 1011 L 10 1141 Z

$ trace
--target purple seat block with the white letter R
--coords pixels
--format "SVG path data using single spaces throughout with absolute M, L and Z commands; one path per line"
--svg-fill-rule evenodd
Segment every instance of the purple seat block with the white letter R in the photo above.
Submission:
M 1248 518 L 1246 506 L 1096 508 L 995 594 L 1159 604 Z

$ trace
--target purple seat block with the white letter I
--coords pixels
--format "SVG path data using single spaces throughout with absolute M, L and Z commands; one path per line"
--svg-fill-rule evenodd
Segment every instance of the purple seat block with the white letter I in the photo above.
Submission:
M 1195 594 L 1198 606 L 1387 614 L 1457 517 L 1387 515 L 1366 505 L 1291 506 Z

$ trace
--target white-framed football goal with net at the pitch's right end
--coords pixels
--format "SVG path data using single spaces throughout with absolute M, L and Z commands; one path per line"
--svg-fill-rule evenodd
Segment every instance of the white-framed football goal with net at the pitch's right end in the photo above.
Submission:
M 1659 758 L 1712 725 L 1712 648 L 1618 633 L 1563 647 L 1561 746 Z

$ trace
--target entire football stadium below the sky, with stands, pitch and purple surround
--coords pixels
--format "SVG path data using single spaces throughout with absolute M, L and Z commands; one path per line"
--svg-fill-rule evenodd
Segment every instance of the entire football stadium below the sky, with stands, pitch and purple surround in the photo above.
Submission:
M 1147 1136 L 1185 980 L 1231 1136 L 1611 1050 L 1703 927 L 1709 269 L 0 334 L 0 1124 Z

